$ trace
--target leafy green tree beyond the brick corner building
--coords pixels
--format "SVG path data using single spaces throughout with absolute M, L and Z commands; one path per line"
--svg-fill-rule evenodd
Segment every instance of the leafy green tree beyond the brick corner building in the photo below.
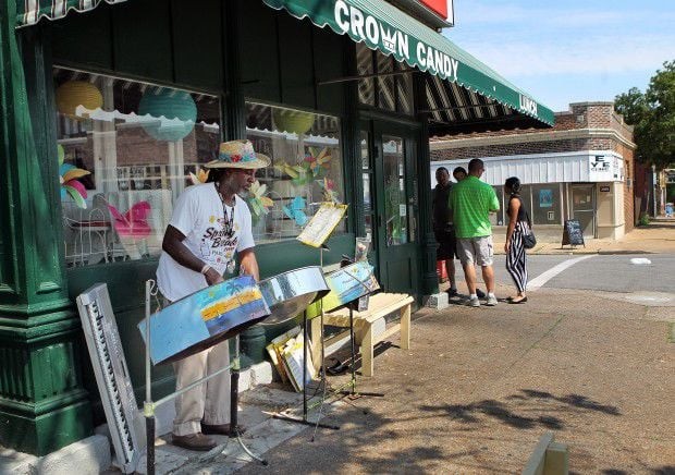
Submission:
M 614 109 L 635 126 L 638 160 L 659 169 L 675 165 L 675 60 L 663 63 L 645 94 L 631 87 L 616 96 Z

